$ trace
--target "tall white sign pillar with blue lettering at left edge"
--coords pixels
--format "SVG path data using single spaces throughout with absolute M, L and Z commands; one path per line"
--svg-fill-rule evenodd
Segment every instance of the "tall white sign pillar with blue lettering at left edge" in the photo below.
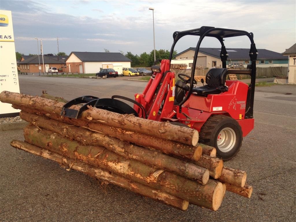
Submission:
M 0 33 L 0 92 L 20 93 L 11 11 L 0 10 Z M 11 104 L 0 102 L 1 118 L 17 116 L 19 112 Z

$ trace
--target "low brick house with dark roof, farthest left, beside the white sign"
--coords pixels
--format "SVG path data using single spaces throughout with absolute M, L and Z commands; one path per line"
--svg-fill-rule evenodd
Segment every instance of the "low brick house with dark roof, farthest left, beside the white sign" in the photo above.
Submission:
M 41 73 L 48 71 L 49 67 L 56 67 L 62 70 L 65 67 L 65 61 L 63 62 L 56 60 L 55 58 L 49 56 L 35 55 L 35 56 L 25 56 L 23 55 L 21 61 L 18 62 L 21 73 L 39 73 L 39 61 L 41 66 Z M 43 66 L 44 65 L 44 66 Z

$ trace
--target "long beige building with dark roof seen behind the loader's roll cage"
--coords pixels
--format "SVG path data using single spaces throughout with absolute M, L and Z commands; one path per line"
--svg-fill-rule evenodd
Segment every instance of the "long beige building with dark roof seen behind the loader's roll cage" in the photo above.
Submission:
M 267 49 L 257 50 L 257 67 L 288 66 L 287 56 Z M 247 67 L 247 65 L 251 64 L 249 56 L 250 49 L 226 48 L 226 51 L 229 54 L 226 61 L 227 67 Z M 221 48 L 200 48 L 196 65 L 204 68 L 222 67 L 220 52 Z M 172 64 L 185 63 L 189 67 L 192 67 L 194 53 L 195 48 L 186 49 L 176 54 L 176 59 L 172 61 Z

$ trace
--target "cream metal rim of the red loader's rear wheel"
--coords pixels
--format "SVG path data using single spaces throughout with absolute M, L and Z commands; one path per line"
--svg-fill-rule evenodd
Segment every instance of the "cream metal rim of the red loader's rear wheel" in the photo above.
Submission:
M 217 137 L 217 146 L 221 152 L 229 152 L 236 142 L 236 134 L 232 128 L 223 128 Z

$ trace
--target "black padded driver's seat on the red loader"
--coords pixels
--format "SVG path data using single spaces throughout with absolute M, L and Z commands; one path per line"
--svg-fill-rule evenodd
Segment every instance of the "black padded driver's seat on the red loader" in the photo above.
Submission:
M 219 94 L 228 91 L 227 86 L 225 86 L 226 76 L 227 69 L 210 69 L 205 76 L 207 85 L 193 88 L 192 93 L 199 96 L 207 96 L 208 94 Z

